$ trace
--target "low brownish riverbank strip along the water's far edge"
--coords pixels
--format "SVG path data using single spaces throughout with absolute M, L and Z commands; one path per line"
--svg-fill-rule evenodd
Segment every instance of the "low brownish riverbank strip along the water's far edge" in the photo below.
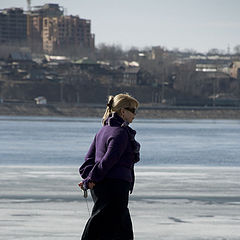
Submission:
M 2 103 L 1 116 L 62 116 L 99 117 L 105 111 L 103 105 L 87 104 L 46 104 Z M 240 119 L 239 107 L 166 107 L 141 106 L 137 116 L 140 118 L 163 119 Z

